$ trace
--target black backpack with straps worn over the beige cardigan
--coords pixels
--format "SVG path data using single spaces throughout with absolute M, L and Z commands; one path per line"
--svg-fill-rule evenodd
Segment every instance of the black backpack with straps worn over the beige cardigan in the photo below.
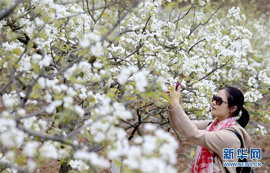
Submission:
M 210 124 L 212 124 L 212 122 L 209 122 L 208 125 L 210 125 Z M 226 130 L 232 131 L 238 137 L 238 139 L 240 140 L 240 143 L 241 143 L 241 148 L 243 148 L 243 141 L 242 141 L 242 138 L 241 138 L 240 134 L 237 131 L 234 131 L 234 130 L 231 130 L 231 129 L 226 129 Z M 216 155 L 217 154 L 214 153 L 214 157 Z M 247 162 L 247 159 L 246 158 L 244 158 L 244 159 L 240 159 L 239 158 L 238 159 L 238 162 Z M 224 168 L 226 170 L 226 173 L 230 173 L 226 167 L 224 167 Z M 252 168 L 250 166 L 247 166 L 247 167 L 240 167 L 240 166 L 238 166 L 238 167 L 236 167 L 236 173 L 254 173 L 254 172 L 253 172 L 253 170 L 252 170 Z

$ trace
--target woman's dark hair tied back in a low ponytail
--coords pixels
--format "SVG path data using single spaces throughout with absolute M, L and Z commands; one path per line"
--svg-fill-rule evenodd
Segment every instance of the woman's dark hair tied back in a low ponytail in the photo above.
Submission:
M 249 113 L 247 110 L 243 107 L 244 105 L 244 94 L 242 91 L 235 87 L 223 87 L 221 89 L 225 89 L 225 93 L 227 96 L 229 108 L 231 110 L 232 106 L 236 106 L 237 109 L 234 111 L 232 116 L 238 116 L 240 110 L 242 110 L 242 114 L 240 118 L 237 120 L 238 124 L 240 124 L 243 128 L 246 127 L 248 121 L 249 121 Z M 230 112 L 231 114 L 231 112 Z

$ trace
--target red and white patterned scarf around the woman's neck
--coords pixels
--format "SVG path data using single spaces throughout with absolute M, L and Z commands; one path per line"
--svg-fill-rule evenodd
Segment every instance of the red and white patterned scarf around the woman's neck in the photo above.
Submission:
M 216 118 L 211 125 L 207 126 L 205 131 L 218 131 L 223 128 L 228 128 L 231 125 L 235 124 L 235 120 L 236 117 L 229 117 L 217 124 L 218 119 Z M 214 153 L 212 151 L 198 145 L 191 172 L 192 173 L 213 172 L 213 159 L 214 159 L 213 156 Z

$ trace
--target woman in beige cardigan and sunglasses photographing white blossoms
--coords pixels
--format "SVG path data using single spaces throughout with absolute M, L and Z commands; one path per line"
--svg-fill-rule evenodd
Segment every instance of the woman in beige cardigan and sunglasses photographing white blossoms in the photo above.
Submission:
M 182 109 L 180 99 L 180 88 L 175 91 L 168 87 L 167 94 L 170 96 L 172 103 L 167 107 L 169 119 L 178 131 L 193 143 L 197 144 L 195 160 L 192 165 L 193 173 L 210 173 L 210 172 L 236 172 L 236 167 L 223 167 L 222 162 L 238 162 L 237 149 L 240 148 L 240 140 L 229 130 L 231 129 L 240 134 L 245 144 L 251 142 L 251 139 L 244 130 L 249 121 L 249 113 L 244 109 L 244 95 L 235 87 L 224 87 L 217 95 L 213 96 L 211 114 L 216 116 L 215 120 L 190 121 L 187 114 Z M 236 120 L 240 110 L 241 117 Z M 210 125 L 209 123 L 212 122 Z M 223 159 L 223 149 L 234 148 L 233 159 Z M 214 155 L 214 153 L 216 153 Z

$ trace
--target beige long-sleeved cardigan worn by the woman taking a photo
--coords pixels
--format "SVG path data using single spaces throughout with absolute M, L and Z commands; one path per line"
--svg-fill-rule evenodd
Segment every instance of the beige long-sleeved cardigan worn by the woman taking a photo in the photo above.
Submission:
M 213 120 L 191 121 L 181 105 L 173 108 L 173 110 L 170 110 L 169 106 L 167 107 L 169 112 L 169 120 L 173 128 L 175 130 L 182 131 L 182 133 L 194 144 L 205 147 L 217 154 L 217 156 L 214 158 L 214 161 L 217 163 L 217 165 L 214 164 L 214 172 L 226 172 L 222 162 L 238 162 L 238 158 L 236 158 L 236 150 L 240 148 L 240 141 L 232 131 L 225 129 L 237 131 L 242 138 L 244 148 L 245 144 L 251 142 L 247 131 L 245 131 L 245 129 L 242 128 L 237 122 L 235 125 L 219 131 L 205 131 L 208 123 Z M 233 160 L 223 160 L 224 148 L 234 148 Z M 230 173 L 236 172 L 236 167 L 226 168 Z

